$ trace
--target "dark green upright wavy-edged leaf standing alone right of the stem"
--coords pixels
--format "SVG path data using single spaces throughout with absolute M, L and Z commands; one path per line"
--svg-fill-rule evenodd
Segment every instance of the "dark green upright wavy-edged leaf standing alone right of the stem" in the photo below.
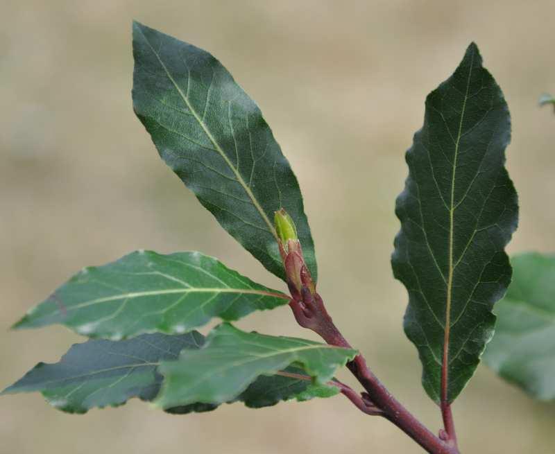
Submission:
M 395 207 L 393 273 L 409 293 L 404 331 L 437 402 L 452 402 L 475 372 L 493 334 L 491 309 L 511 281 L 504 252 L 518 222 L 504 168 L 511 121 L 481 61 L 470 44 L 454 74 L 427 96 Z

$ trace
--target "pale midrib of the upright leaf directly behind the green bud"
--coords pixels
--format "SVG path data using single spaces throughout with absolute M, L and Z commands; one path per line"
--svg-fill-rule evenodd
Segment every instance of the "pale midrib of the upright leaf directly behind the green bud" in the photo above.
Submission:
M 171 76 L 171 73 L 169 72 L 169 69 L 167 69 L 166 65 L 162 61 L 162 58 L 160 58 L 160 55 L 158 55 L 158 53 L 154 50 L 153 46 L 151 45 L 151 43 L 148 41 L 148 39 L 144 35 L 142 28 L 140 26 L 136 26 L 136 27 L 140 31 L 140 33 L 141 33 L 144 41 L 146 42 L 148 48 L 151 49 L 152 53 L 155 55 L 156 59 L 160 63 L 160 66 L 162 67 L 162 69 L 164 69 L 164 72 L 166 73 L 166 76 L 169 78 L 169 80 L 173 84 L 173 87 L 176 88 L 176 90 L 178 91 L 179 96 L 182 98 L 185 105 L 187 105 L 187 108 L 191 111 L 191 114 L 194 116 L 194 119 L 196 119 L 198 125 L 200 125 L 200 127 L 203 128 L 203 131 L 207 135 L 208 139 L 210 139 L 210 141 L 212 142 L 212 145 L 214 145 L 214 147 L 216 148 L 216 151 L 219 153 L 219 155 L 221 155 L 221 157 L 225 161 L 225 164 L 227 164 L 229 166 L 229 168 L 231 169 L 231 171 L 234 173 L 235 177 L 237 178 L 237 182 L 239 182 L 239 184 L 241 184 L 244 191 L 246 192 L 246 194 L 248 195 L 250 200 L 253 202 L 253 205 L 255 206 L 257 211 L 259 212 L 260 216 L 262 217 L 262 220 L 264 220 L 264 222 L 268 226 L 268 231 L 272 234 L 272 236 L 275 238 L 275 240 L 278 241 L 278 234 L 275 232 L 275 228 L 274 228 L 272 222 L 270 222 L 268 216 L 266 216 L 266 212 L 264 211 L 264 209 L 262 209 L 262 206 L 259 204 L 257 198 L 255 198 L 255 195 L 253 194 L 253 191 L 250 190 L 250 187 L 248 186 L 248 184 L 246 184 L 245 180 L 243 179 L 243 177 L 241 176 L 241 174 L 239 173 L 237 168 L 235 168 L 235 166 L 233 166 L 233 164 L 230 161 L 230 159 L 228 158 L 228 156 L 225 155 L 225 152 L 223 152 L 223 149 L 221 148 L 219 143 L 216 141 L 216 139 L 214 139 L 214 136 L 212 135 L 212 132 L 210 132 L 210 130 L 208 129 L 208 127 L 205 124 L 205 122 L 203 121 L 203 119 L 201 119 L 200 116 L 198 116 L 198 113 L 196 112 L 196 110 L 194 110 L 191 103 L 189 103 L 189 98 L 187 98 L 187 96 L 185 95 L 185 93 L 183 93 L 181 87 L 178 85 L 176 80 L 173 78 L 173 76 Z M 188 83 L 191 82 L 190 79 L 191 79 L 190 76 L 188 76 Z

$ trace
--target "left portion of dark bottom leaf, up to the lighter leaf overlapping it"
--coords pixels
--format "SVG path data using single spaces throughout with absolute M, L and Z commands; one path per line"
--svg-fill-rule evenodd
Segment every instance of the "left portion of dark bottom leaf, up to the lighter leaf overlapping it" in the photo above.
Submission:
M 162 383 L 156 372 L 160 360 L 175 359 L 182 349 L 198 349 L 203 342 L 196 331 L 89 340 L 74 344 L 59 363 L 38 363 L 2 394 L 40 391 L 48 403 L 70 413 L 123 405 L 132 397 L 150 401 Z

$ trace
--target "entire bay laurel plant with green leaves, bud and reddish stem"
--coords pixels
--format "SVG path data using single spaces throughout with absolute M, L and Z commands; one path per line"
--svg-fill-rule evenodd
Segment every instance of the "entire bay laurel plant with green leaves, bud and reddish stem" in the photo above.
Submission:
M 83 268 L 15 328 L 62 324 L 90 339 L 56 364 L 37 364 L 3 394 L 39 391 L 71 413 L 139 397 L 176 414 L 237 401 L 261 408 L 342 394 L 363 414 L 391 421 L 425 451 L 459 453 L 452 403 L 493 336 L 493 306 L 511 283 L 504 248 L 518 222 L 517 194 L 504 167 L 509 109 L 476 44 L 427 96 L 395 204 L 400 232 L 391 264 L 409 295 L 404 331 L 418 350 L 425 392 L 443 417 L 439 430 L 426 428 L 388 392 L 332 322 L 336 304 L 325 304 L 318 293 L 298 180 L 259 107 L 210 53 L 153 28 L 133 24 L 133 55 L 133 107 L 160 157 L 287 291 L 262 286 L 200 252 L 139 250 Z M 550 323 L 543 340 L 553 352 L 554 319 L 542 315 L 553 315 L 554 306 L 533 289 L 541 285 L 553 295 L 555 259 L 522 256 L 515 268 L 521 275 L 499 311 L 504 333 L 488 363 L 551 399 L 553 353 L 538 369 L 529 360 L 538 339 L 526 336 Z M 291 321 L 325 343 L 232 324 L 286 304 Z M 214 319 L 221 324 L 207 335 L 196 331 Z M 343 367 L 361 390 L 334 378 Z

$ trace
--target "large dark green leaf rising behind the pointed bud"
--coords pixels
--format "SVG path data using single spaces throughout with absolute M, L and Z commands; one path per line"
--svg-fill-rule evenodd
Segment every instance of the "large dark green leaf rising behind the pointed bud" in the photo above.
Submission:
M 272 219 L 284 208 L 316 281 L 297 179 L 258 106 L 210 53 L 133 24 L 133 107 L 160 156 L 205 208 L 285 279 Z

